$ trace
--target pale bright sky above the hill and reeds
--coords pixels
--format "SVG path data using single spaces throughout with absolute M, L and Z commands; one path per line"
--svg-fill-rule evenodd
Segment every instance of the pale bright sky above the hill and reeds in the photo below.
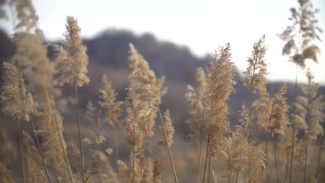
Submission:
M 325 1 L 312 0 L 321 10 L 319 26 L 325 30 Z M 188 46 L 196 55 L 213 53 L 230 42 L 233 61 L 247 67 L 253 42 L 263 34 L 268 45 L 269 80 L 294 80 L 295 65 L 281 55 L 283 42 L 276 36 L 289 24 L 290 8 L 297 0 L 33 0 L 40 17 L 39 26 L 49 40 L 63 39 L 65 17 L 78 19 L 84 37 L 105 28 L 127 28 L 137 34 L 153 33 L 159 40 Z M 325 84 L 325 35 L 319 44 L 319 64 L 308 61 L 317 82 Z M 127 49 L 127 48 L 126 48 Z M 306 80 L 299 71 L 299 81 Z

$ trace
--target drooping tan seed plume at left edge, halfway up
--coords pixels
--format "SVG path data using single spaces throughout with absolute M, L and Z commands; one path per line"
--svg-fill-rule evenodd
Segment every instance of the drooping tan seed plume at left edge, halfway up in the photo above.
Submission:
M 4 114 L 28 121 L 33 110 L 33 98 L 26 92 L 22 73 L 9 62 L 3 62 L 1 108 Z

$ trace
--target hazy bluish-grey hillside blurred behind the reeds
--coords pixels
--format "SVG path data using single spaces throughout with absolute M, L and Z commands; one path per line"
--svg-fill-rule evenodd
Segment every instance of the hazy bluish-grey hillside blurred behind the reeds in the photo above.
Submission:
M 106 73 L 112 80 L 113 87 L 118 92 L 119 100 L 124 100 L 126 96 L 125 88 L 128 86 L 128 43 L 132 42 L 138 51 L 144 55 L 156 76 L 166 76 L 165 86 L 169 88 L 168 94 L 163 98 L 163 110 L 168 108 L 171 111 L 172 119 L 177 131 L 185 137 L 188 134 L 188 125 L 185 121 L 188 119 L 187 105 L 185 101 L 185 92 L 187 85 L 194 85 L 194 76 L 197 67 L 208 67 L 212 55 L 198 58 L 193 55 L 186 46 L 178 46 L 171 42 L 162 42 L 149 34 L 134 35 L 129 30 L 108 29 L 93 37 L 84 40 L 88 47 L 88 56 L 90 58 L 89 77 L 90 84 L 79 89 L 81 110 L 85 111 L 87 101 L 97 101 L 100 78 Z M 59 43 L 59 42 L 56 42 Z M 226 43 L 219 43 L 220 46 Z M 252 43 L 253 44 L 253 43 Z M 247 45 L 251 46 L 251 45 Z M 5 32 L 0 30 L 0 61 L 10 59 L 14 53 L 15 46 L 12 45 L 10 38 Z M 216 48 L 218 49 L 218 48 Z M 210 51 L 211 53 L 213 51 Z M 49 47 L 49 58 L 53 60 L 55 53 Z M 247 53 L 249 56 L 250 53 Z M 233 60 L 233 62 L 246 62 L 246 60 Z M 2 64 L 1 64 L 2 66 Z M 242 85 L 242 71 L 236 69 L 235 93 L 232 94 L 230 105 L 231 125 L 238 123 L 238 111 L 244 103 L 247 103 L 249 91 Z M 269 93 L 274 94 L 281 82 L 271 82 L 268 85 Z M 292 100 L 293 84 L 287 83 L 288 98 Z M 65 87 L 64 96 L 73 96 L 72 89 Z M 321 88 L 321 93 L 325 94 L 325 87 Z M 84 114 L 84 113 L 83 113 Z M 64 114 L 66 121 L 73 121 L 74 113 Z M 70 120 L 71 119 L 71 120 Z M 67 123 L 65 121 L 65 123 Z

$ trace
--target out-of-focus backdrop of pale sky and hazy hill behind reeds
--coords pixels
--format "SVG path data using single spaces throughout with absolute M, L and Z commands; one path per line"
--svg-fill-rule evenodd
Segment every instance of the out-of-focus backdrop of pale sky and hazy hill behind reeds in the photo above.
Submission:
M 317 14 L 319 26 L 325 30 L 325 1 L 312 1 Z M 47 42 L 60 43 L 65 33 L 65 17 L 74 16 L 81 27 L 83 43 L 88 48 L 90 84 L 79 89 L 79 103 L 85 114 L 88 101 L 98 101 L 100 78 L 106 73 L 116 89 L 117 98 L 124 101 L 128 87 L 128 43 L 132 42 L 144 55 L 156 76 L 166 76 L 165 86 L 168 94 L 163 98 L 163 110 L 172 114 L 176 137 L 172 150 L 176 157 L 185 153 L 187 158 L 195 157 L 195 144 L 187 138 L 189 115 L 185 101 L 187 85 L 194 85 L 197 67 L 206 68 L 212 60 L 213 53 L 226 43 L 231 43 L 233 62 L 236 66 L 237 85 L 229 101 L 231 126 L 238 124 L 242 104 L 247 103 L 249 91 L 243 86 L 242 71 L 247 67 L 247 57 L 251 56 L 253 42 L 263 34 L 268 46 L 267 62 L 270 94 L 285 82 L 288 84 L 287 97 L 292 101 L 295 65 L 282 56 L 283 44 L 278 34 L 290 24 L 290 8 L 297 7 L 295 0 L 274 1 L 101 1 L 101 0 L 34 0 L 33 5 L 39 16 L 39 27 L 44 31 Z M 0 61 L 10 59 L 14 53 L 12 24 L 0 21 Z M 322 86 L 320 93 L 325 94 L 325 35 L 320 35 L 323 42 L 319 44 L 321 53 L 319 63 L 307 62 L 315 75 L 315 81 Z M 49 58 L 53 50 L 49 47 Z M 306 82 L 305 72 L 299 70 L 299 82 Z M 72 89 L 63 88 L 64 96 L 73 98 Z M 68 100 L 69 101 L 69 100 Z M 70 101 L 73 101 L 72 99 Z M 72 109 L 72 103 L 67 105 Z M 67 141 L 77 134 L 75 114 L 62 110 L 64 116 L 65 136 Z M 125 115 L 124 115 L 125 116 Z M 83 132 L 86 136 L 89 123 L 83 120 Z M 119 137 L 123 139 L 123 130 Z M 108 134 L 111 130 L 108 128 Z M 15 129 L 7 132 L 15 134 Z M 110 136 L 109 136 L 110 137 Z M 113 146 L 113 139 L 106 139 L 106 146 Z M 15 138 L 15 137 L 14 137 Z M 263 140 L 264 135 L 261 134 Z M 157 130 L 151 143 L 161 139 Z M 121 140 L 122 141 L 122 140 Z M 127 161 L 129 147 L 123 141 L 122 158 Z M 177 158 L 176 158 L 177 159 Z M 184 165 L 184 166 L 185 166 Z M 178 163 L 181 166 L 181 162 Z M 193 168 L 191 171 L 195 171 Z M 185 181 L 186 173 L 181 174 Z M 183 176 L 182 176 L 183 175 Z M 188 177 L 188 179 L 190 179 Z

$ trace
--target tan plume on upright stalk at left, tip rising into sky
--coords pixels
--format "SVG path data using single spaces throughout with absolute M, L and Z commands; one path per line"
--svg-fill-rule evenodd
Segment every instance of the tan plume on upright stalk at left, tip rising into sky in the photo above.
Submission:
M 67 17 L 67 32 L 65 33 L 65 46 L 58 54 L 58 84 L 76 84 L 82 87 L 88 84 L 88 55 L 83 45 L 78 22 L 74 17 Z

